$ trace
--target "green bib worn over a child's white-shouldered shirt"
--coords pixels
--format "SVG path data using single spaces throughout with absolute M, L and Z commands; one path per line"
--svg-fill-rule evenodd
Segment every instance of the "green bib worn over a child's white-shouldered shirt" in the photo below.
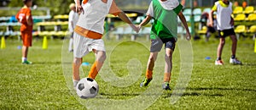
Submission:
M 177 0 L 174 1 L 177 2 Z M 172 1 L 166 2 L 171 3 Z M 160 0 L 152 1 L 154 23 L 150 32 L 150 39 L 156 39 L 157 37 L 160 37 L 160 39 L 177 38 L 177 14 L 182 10 L 183 6 L 178 2 L 177 4 L 171 3 L 171 5 L 173 5 L 171 9 L 166 9 L 161 5 Z

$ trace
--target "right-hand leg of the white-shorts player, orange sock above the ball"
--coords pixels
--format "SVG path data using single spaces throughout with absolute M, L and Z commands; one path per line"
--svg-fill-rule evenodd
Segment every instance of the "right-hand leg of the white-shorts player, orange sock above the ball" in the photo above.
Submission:
M 88 77 L 91 79 L 96 78 L 96 75 L 99 73 L 100 69 L 102 69 L 102 65 L 103 65 L 104 61 L 106 60 L 106 52 L 105 51 L 97 51 L 94 49 L 93 52 L 96 55 L 96 61 L 91 66 L 90 72 L 88 74 Z

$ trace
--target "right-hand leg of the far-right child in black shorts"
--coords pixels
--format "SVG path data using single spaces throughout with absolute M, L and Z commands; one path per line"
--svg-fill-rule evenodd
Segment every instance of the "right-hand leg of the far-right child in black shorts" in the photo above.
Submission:
M 241 64 L 241 61 L 236 59 L 236 46 L 237 46 L 237 39 L 236 39 L 236 34 L 234 30 L 230 30 L 230 39 L 232 40 L 232 47 L 231 47 L 231 58 L 230 58 L 230 63 L 232 64 Z

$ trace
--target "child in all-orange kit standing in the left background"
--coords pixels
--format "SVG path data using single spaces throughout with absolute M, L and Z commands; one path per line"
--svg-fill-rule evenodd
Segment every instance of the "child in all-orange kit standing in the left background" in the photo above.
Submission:
M 32 0 L 23 0 L 24 6 L 20 9 L 15 18 L 21 23 L 20 34 L 23 41 L 22 47 L 22 61 L 23 64 L 32 64 L 27 60 L 28 48 L 32 47 L 32 29 L 33 20 L 30 7 L 32 6 Z

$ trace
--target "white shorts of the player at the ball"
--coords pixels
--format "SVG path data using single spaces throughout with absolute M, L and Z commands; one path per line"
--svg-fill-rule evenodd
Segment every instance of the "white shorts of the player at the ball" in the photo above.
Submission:
M 83 58 L 86 54 L 95 49 L 96 51 L 106 52 L 104 41 L 102 39 L 90 39 L 73 33 L 73 57 Z

